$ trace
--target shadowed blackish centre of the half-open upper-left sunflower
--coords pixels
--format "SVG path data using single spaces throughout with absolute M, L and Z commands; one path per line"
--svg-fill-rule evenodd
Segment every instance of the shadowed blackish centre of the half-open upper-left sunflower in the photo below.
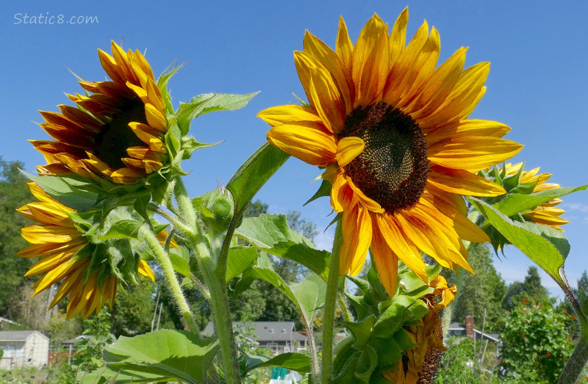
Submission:
M 95 143 L 98 149 L 95 154 L 111 168 L 125 167 L 121 158 L 129 157 L 126 153 L 127 148 L 139 145 L 145 147 L 145 143 L 129 128 L 132 121 L 147 124 L 145 105 L 141 100 L 133 100 L 125 105 L 122 111 L 115 114 L 110 123 L 103 125 L 100 133 L 96 135 Z

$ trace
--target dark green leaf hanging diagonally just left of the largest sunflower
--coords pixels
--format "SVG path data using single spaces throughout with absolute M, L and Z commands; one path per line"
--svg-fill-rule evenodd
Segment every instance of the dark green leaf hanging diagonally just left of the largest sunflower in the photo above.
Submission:
M 289 154 L 267 141 L 253 153 L 227 183 L 235 199 L 235 215 L 240 216 L 259 188 L 288 160 Z

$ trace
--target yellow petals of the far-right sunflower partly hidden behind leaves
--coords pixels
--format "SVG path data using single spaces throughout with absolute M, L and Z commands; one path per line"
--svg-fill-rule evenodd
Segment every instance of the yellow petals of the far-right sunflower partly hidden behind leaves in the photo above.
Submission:
M 507 176 L 513 176 L 517 173 L 520 173 L 519 184 L 534 184 L 535 187 L 532 193 L 560 187 L 560 184 L 546 183 L 546 181 L 549 180 L 549 178 L 552 175 L 550 173 L 537 174 L 539 172 L 539 167 L 534 168 L 530 171 L 523 171 L 522 167 L 523 163 L 515 165 L 507 163 L 504 169 L 506 171 Z M 502 171 L 502 169 L 500 169 L 499 171 Z M 553 200 L 549 200 L 547 201 L 547 203 L 543 203 L 540 206 L 534 208 L 530 212 L 523 213 L 523 216 L 529 221 L 533 221 L 533 223 L 544 224 L 546 226 L 553 227 L 560 232 L 563 232 L 560 226 L 569 223 L 569 221 L 564 220 L 559 216 L 565 213 L 566 211 L 564 211 L 561 208 L 555 207 L 557 206 L 557 204 L 562 203 L 562 201 L 563 200 L 560 198 L 554 198 Z

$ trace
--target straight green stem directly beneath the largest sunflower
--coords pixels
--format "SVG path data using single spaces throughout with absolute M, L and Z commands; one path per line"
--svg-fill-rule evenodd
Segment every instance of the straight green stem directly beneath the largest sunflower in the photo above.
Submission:
M 329 276 L 327 277 L 325 311 L 323 314 L 323 358 L 322 369 L 320 372 L 321 384 L 330 383 L 331 371 L 333 369 L 333 328 L 335 326 L 335 302 L 337 300 L 337 291 L 339 288 L 339 251 L 341 250 L 342 241 L 341 220 L 339 220 L 337 221 L 337 227 L 335 229 L 333 252 L 331 254 Z

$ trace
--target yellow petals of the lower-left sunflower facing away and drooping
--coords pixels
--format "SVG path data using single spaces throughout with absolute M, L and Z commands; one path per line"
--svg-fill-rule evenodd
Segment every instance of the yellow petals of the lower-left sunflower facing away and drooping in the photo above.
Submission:
M 68 319 L 78 313 L 85 319 L 94 311 L 98 313 L 106 302 L 112 309 L 118 277 L 112 274 L 107 262 L 97 266 L 92 263 L 93 257 L 98 257 L 101 250 L 84 236 L 69 217 L 68 214 L 75 210 L 59 203 L 37 184 L 28 183 L 28 186 L 39 201 L 26 204 L 17 211 L 41 225 L 22 229 L 22 237 L 31 245 L 20 250 L 16 256 L 43 256 L 25 274 L 34 276 L 45 273 L 36 280 L 34 294 L 61 281 L 49 309 L 69 294 L 66 310 Z M 160 241 L 165 241 L 163 235 L 160 234 Z M 177 245 L 172 243 L 172 246 Z M 139 260 L 136 272 L 155 282 L 153 272 L 145 260 Z

